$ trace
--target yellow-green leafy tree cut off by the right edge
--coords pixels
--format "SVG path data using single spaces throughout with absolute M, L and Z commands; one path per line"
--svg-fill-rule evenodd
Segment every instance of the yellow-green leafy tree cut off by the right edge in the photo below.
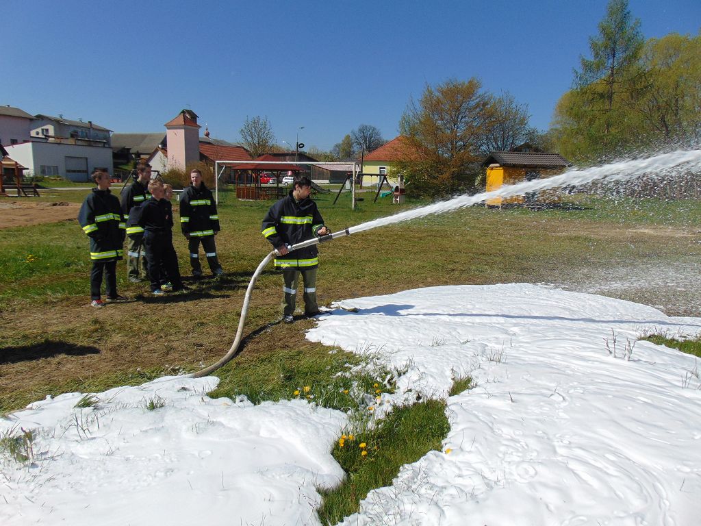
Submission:
M 701 140 L 701 32 L 650 39 L 642 53 L 650 83 L 634 101 L 640 130 L 650 144 L 698 144 Z

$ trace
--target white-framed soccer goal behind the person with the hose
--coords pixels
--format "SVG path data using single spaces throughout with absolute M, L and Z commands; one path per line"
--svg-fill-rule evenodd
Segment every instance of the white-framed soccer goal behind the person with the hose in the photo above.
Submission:
M 355 182 L 360 175 L 358 163 L 318 161 L 215 161 L 215 200 L 219 204 L 219 182 L 230 180 L 236 185 L 236 197 L 252 201 L 275 199 L 287 194 L 295 173 L 307 173 L 312 186 L 324 191 L 319 183 L 349 183 L 352 208 L 355 209 Z

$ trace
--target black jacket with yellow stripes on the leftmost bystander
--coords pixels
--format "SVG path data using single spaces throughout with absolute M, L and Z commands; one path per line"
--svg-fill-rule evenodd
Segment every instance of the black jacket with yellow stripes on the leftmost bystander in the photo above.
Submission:
M 122 259 L 126 224 L 119 200 L 109 189 L 94 188 L 78 213 L 83 232 L 90 237 L 90 259 L 97 262 Z

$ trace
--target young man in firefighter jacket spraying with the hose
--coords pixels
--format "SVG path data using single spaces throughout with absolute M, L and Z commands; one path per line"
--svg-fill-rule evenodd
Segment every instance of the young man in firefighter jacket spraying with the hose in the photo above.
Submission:
M 294 321 L 299 274 L 304 281 L 304 315 L 311 318 L 321 313 L 316 301 L 316 272 L 319 267 L 317 245 L 294 252 L 288 248 L 313 236 L 331 234 L 310 194 L 311 180 L 305 175 L 296 175 L 290 193 L 271 206 L 261 227 L 262 234 L 279 254 L 275 257 L 275 268 L 283 271 L 285 323 Z

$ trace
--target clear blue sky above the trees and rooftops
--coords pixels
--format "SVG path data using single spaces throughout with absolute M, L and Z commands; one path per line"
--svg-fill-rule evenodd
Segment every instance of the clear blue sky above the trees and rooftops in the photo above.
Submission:
M 115 132 L 191 108 L 237 141 L 267 116 L 278 144 L 330 149 L 360 124 L 384 137 L 426 83 L 479 78 L 545 130 L 606 0 L 4 0 L 0 104 Z M 697 34 L 699 0 L 629 0 L 646 38 Z M 301 126 L 304 129 L 299 130 Z

